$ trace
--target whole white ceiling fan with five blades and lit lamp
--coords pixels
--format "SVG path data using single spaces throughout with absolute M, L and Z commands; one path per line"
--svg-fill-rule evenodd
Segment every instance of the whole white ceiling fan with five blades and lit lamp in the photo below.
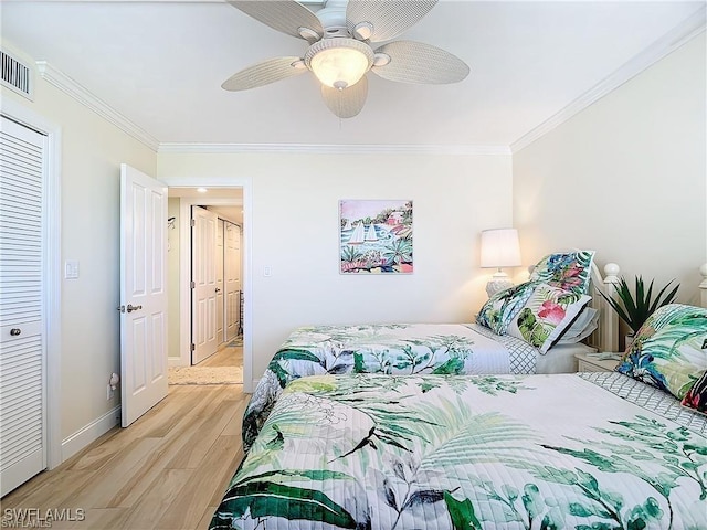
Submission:
M 316 13 L 296 0 L 228 0 L 234 8 L 288 35 L 304 39 L 304 56 L 276 57 L 254 64 L 221 87 L 245 91 L 313 72 L 321 96 L 339 118 L 363 108 L 370 71 L 400 83 L 447 84 L 464 80 L 469 68 L 455 55 L 415 41 L 390 41 L 422 19 L 437 0 L 327 0 Z

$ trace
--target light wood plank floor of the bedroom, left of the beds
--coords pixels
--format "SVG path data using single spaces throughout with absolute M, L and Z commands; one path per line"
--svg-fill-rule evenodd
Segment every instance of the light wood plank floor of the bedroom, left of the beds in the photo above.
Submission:
M 7 509 L 82 509 L 83 530 L 207 529 L 243 458 L 242 385 L 171 385 L 127 428 L 116 427 L 1 500 Z M 3 521 L 3 527 L 6 521 Z

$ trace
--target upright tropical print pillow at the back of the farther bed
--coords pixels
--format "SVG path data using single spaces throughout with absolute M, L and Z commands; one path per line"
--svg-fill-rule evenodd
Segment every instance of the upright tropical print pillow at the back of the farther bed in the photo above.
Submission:
M 541 282 L 564 290 L 587 294 L 594 251 L 548 254 L 532 269 L 531 282 Z

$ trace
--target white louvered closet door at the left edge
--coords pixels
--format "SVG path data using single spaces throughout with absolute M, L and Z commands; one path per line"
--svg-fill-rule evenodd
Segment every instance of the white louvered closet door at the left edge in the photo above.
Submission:
M 45 137 L 1 118 L 0 492 L 46 467 L 42 187 Z

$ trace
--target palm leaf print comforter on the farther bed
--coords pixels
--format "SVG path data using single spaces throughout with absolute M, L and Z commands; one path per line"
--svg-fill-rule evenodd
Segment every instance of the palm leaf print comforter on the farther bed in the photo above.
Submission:
M 475 324 L 307 326 L 273 356 L 243 417 L 247 451 L 285 385 L 341 373 L 534 373 L 538 350 Z

